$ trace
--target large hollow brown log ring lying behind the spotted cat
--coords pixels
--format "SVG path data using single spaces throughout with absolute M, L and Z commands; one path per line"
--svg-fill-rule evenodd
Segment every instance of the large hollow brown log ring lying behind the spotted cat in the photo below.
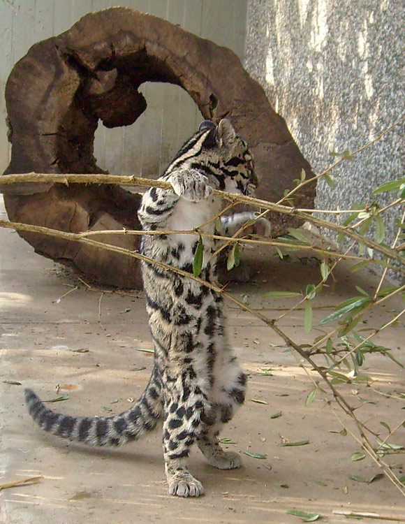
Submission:
M 15 65 L 6 85 L 12 155 L 4 174 L 103 173 L 93 154 L 98 119 L 108 127 L 135 122 L 147 107 L 138 88 L 148 81 L 185 89 L 204 119 L 230 119 L 252 147 L 258 198 L 277 201 L 294 187 L 302 169 L 311 175 L 285 122 L 232 51 L 121 7 L 82 17 L 68 31 L 34 45 Z M 121 187 L 50 183 L 0 184 L 0 189 L 13 221 L 75 233 L 140 228 L 140 196 Z M 308 184 L 295 196 L 295 205 L 311 208 L 314 196 L 315 187 Z M 272 214 L 270 219 L 274 236 L 299 225 L 293 217 Z M 36 252 L 92 280 L 142 285 L 135 259 L 78 242 L 20 235 Z M 138 249 L 139 238 L 108 235 L 103 241 Z

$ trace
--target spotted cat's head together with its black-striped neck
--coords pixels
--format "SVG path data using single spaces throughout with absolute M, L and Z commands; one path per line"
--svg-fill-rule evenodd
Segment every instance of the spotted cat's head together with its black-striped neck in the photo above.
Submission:
M 230 193 L 251 195 L 258 186 L 253 155 L 246 141 L 237 136 L 229 120 L 218 125 L 206 120 L 179 150 L 173 168 L 202 171 L 214 187 Z

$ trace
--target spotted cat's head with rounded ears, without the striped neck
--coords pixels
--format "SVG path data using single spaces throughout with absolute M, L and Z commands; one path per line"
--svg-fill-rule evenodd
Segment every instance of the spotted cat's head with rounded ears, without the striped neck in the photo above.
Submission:
M 228 119 L 205 120 L 198 129 L 201 161 L 212 170 L 219 189 L 251 195 L 258 186 L 253 154 Z

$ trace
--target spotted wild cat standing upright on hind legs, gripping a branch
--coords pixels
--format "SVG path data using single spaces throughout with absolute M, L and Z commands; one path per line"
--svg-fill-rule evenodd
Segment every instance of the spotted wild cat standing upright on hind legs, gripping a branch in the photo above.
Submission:
M 144 231 L 186 231 L 205 224 L 223 208 L 213 189 L 252 194 L 258 184 L 246 142 L 226 119 L 203 122 L 179 150 L 161 180 L 172 190 L 151 188 L 138 216 Z M 222 217 L 232 235 L 253 213 Z M 267 221 L 263 221 L 267 229 Z M 215 221 L 204 226 L 214 234 Z M 193 272 L 195 235 L 143 235 L 141 252 L 150 259 Z M 205 237 L 200 277 L 214 282 L 216 242 Z M 186 459 L 196 443 L 209 464 L 221 470 L 240 467 L 237 453 L 221 449 L 218 435 L 244 402 L 246 375 L 228 344 L 223 299 L 207 286 L 152 263 L 142 262 L 154 368 L 138 402 L 110 417 L 76 417 L 47 409 L 31 390 L 26 400 L 32 418 L 44 430 L 92 446 L 119 446 L 138 439 L 163 420 L 163 457 L 169 492 L 198 497 L 202 484 Z

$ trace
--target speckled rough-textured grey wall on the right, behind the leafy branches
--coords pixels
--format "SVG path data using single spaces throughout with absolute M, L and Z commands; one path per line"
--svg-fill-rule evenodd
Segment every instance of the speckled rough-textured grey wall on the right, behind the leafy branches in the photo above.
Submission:
M 404 0 L 249 0 L 246 68 L 316 172 L 404 114 L 404 19 Z M 403 176 L 404 138 L 402 124 L 346 161 L 336 189 L 318 184 L 318 208 L 350 208 Z

